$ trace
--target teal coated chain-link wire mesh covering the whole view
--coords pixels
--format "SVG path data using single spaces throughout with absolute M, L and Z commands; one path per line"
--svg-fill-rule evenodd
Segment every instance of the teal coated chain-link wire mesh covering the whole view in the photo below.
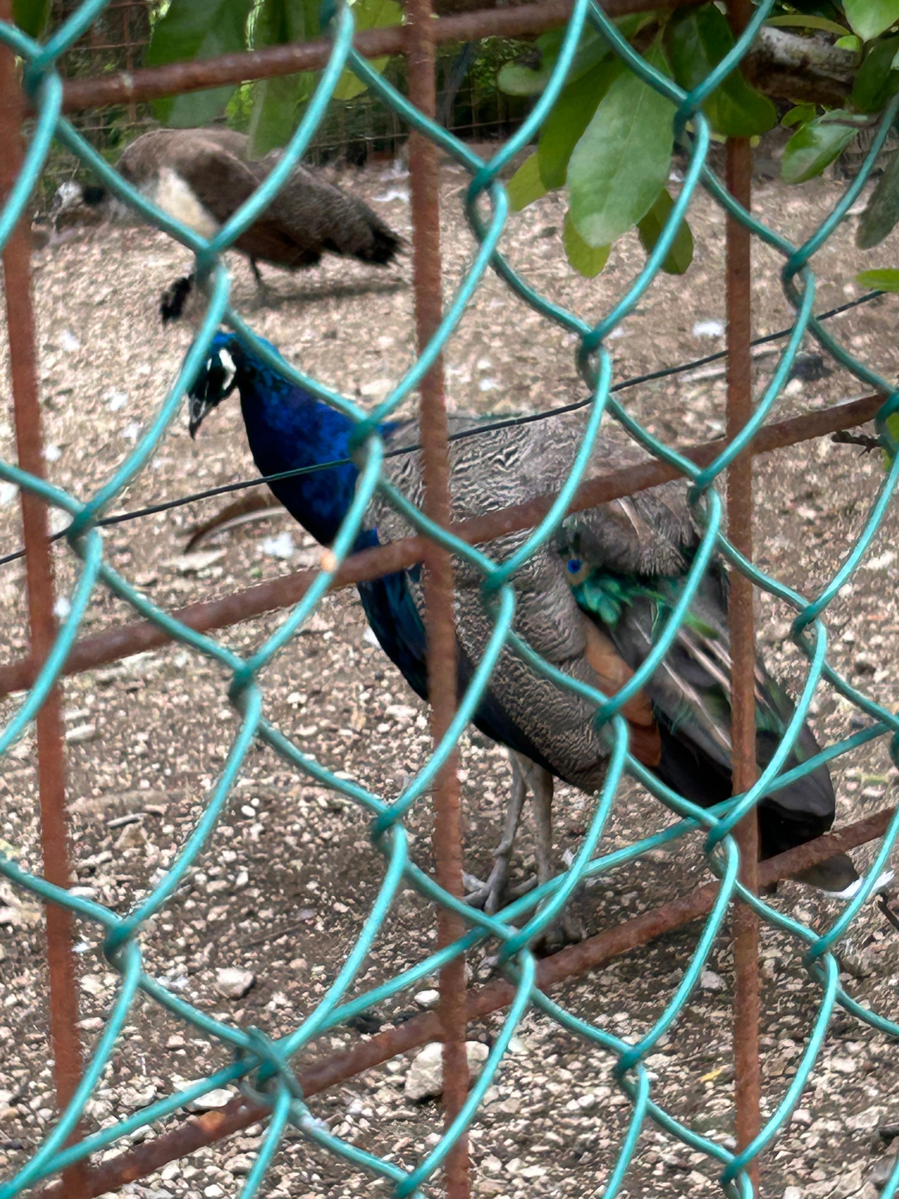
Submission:
M 827 1023 L 834 1007 L 840 1005 L 849 1013 L 867 1022 L 869 1025 L 888 1035 L 899 1036 L 899 1026 L 861 1006 L 843 990 L 839 984 L 838 965 L 833 952 L 834 946 L 846 934 L 862 904 L 865 903 L 871 893 L 875 880 L 887 861 L 897 835 L 899 835 L 899 815 L 893 818 L 886 836 L 882 838 L 862 887 L 852 902 L 843 910 L 839 918 L 823 932 L 798 923 L 783 912 L 776 911 L 761 899 L 747 894 L 741 888 L 737 881 L 740 856 L 731 836 L 732 829 L 738 820 L 764 795 L 783 785 L 788 778 L 807 773 L 822 761 L 831 761 L 867 741 L 877 737 L 887 739 L 893 761 L 899 761 L 899 716 L 887 711 L 851 687 L 831 665 L 827 659 L 827 631 L 822 619 L 828 605 L 861 564 L 883 520 L 887 505 L 895 489 L 897 478 L 899 478 L 899 458 L 894 457 L 892 459 L 879 493 L 870 506 L 864 526 L 846 554 L 843 565 L 820 594 L 811 600 L 790 590 L 777 579 L 759 571 L 752 564 L 744 561 L 730 546 L 722 532 L 722 505 L 716 486 L 720 481 L 728 464 L 749 444 L 767 415 L 772 411 L 806 335 L 811 335 L 816 338 L 856 378 L 888 397 L 879 411 L 877 429 L 885 448 L 888 451 L 895 450 L 885 422 L 899 408 L 899 394 L 893 392 L 886 380 L 881 379 L 876 373 L 850 355 L 814 318 L 815 276 L 811 270 L 811 260 L 858 197 L 897 116 L 897 112 L 899 112 L 899 97 L 892 102 L 883 114 L 864 168 L 857 179 L 849 186 L 845 194 L 815 234 L 802 246 L 794 246 L 743 211 L 710 170 L 706 161 L 710 133 L 706 120 L 700 112 L 702 100 L 708 96 L 747 53 L 761 23 L 768 14 L 771 0 L 756 7 L 750 25 L 735 43 L 732 50 L 708 78 L 690 94 L 684 94 L 670 79 L 662 76 L 639 54 L 632 50 L 592 0 L 577 0 L 571 20 L 568 22 L 557 65 L 543 96 L 537 102 L 521 129 L 489 161 L 478 157 L 445 129 L 441 129 L 416 112 L 402 95 L 393 90 L 386 80 L 379 77 L 352 50 L 351 10 L 340 7 L 338 11 L 331 13 L 330 30 L 333 40 L 331 59 L 322 72 L 313 102 L 309 104 L 303 121 L 286 147 L 282 161 L 254 195 L 225 223 L 216 237 L 211 241 L 205 241 L 179 225 L 162 211 L 149 204 L 146 199 L 132 191 L 91 150 L 73 129 L 72 125 L 60 115 L 62 85 L 55 65 L 60 55 L 84 32 L 103 7 L 104 0 L 88 0 L 44 46 L 35 43 L 10 25 L 0 24 L 0 38 L 24 61 L 24 85 L 37 113 L 23 169 L 0 215 L 0 246 L 6 245 L 11 230 L 25 210 L 25 205 L 34 192 L 41 170 L 47 161 L 48 150 L 55 137 L 72 150 L 86 167 L 92 169 L 121 199 L 134 206 L 147 221 L 167 230 L 195 253 L 198 270 L 200 273 L 209 276 L 209 301 L 201 329 L 194 338 L 183 364 L 155 420 L 150 423 L 146 433 L 121 464 L 113 478 L 95 495 L 83 501 L 73 494 L 26 474 L 12 463 L 0 462 L 0 478 L 28 489 L 43 499 L 48 505 L 61 510 L 71 517 L 67 540 L 72 553 L 80 561 L 80 574 L 72 595 L 70 614 L 59 631 L 53 651 L 38 679 L 0 734 L 0 757 L 11 749 L 17 739 L 26 730 L 30 722 L 35 719 L 49 689 L 59 679 L 66 655 L 78 634 L 91 595 L 95 588 L 101 585 L 110 589 L 140 616 L 161 626 L 174 640 L 207 656 L 223 667 L 230 675 L 229 698 L 240 713 L 241 725 L 231 743 L 225 765 L 206 800 L 203 813 L 177 852 L 174 863 L 156 884 L 151 893 L 128 915 L 120 916 L 98 903 L 60 890 L 38 875 L 23 870 L 11 858 L 0 856 L 0 873 L 16 887 L 22 888 L 23 892 L 29 892 L 41 900 L 60 904 L 67 908 L 86 926 L 97 927 L 103 934 L 103 952 L 105 958 L 120 975 L 115 1002 L 90 1053 L 77 1092 L 40 1149 L 12 1179 L 0 1186 L 0 1199 L 12 1199 L 13 1195 L 34 1186 L 40 1180 L 59 1173 L 66 1165 L 105 1151 L 116 1143 L 122 1141 L 123 1138 L 185 1108 L 207 1091 L 231 1083 L 240 1083 L 247 1093 L 267 1105 L 271 1110 L 271 1117 L 266 1134 L 261 1141 L 261 1147 L 241 1191 L 241 1195 L 245 1199 L 249 1199 L 264 1185 L 266 1171 L 285 1131 L 290 1126 L 298 1129 L 310 1141 L 314 1141 L 346 1163 L 362 1167 L 375 1175 L 385 1177 L 392 1185 L 394 1195 L 417 1194 L 422 1186 L 434 1180 L 435 1171 L 445 1161 L 452 1146 L 457 1144 L 459 1138 L 464 1135 L 466 1127 L 476 1119 L 478 1107 L 484 1099 L 487 1089 L 494 1080 L 496 1071 L 501 1068 L 503 1054 L 509 1046 L 515 1028 L 525 1012 L 531 1007 L 544 1012 L 556 1020 L 559 1025 L 583 1037 L 586 1042 L 610 1052 L 616 1059 L 616 1079 L 630 1104 L 630 1115 L 611 1175 L 605 1186 L 604 1193 L 607 1199 L 611 1199 L 620 1189 L 630 1165 L 640 1132 L 648 1122 L 654 1122 L 665 1133 L 684 1143 L 692 1150 L 706 1155 L 712 1163 L 719 1165 L 720 1185 L 728 1195 L 749 1199 L 752 1195 L 752 1183 L 748 1165 L 777 1137 L 786 1121 L 789 1121 L 791 1111 L 797 1105 L 800 1096 L 814 1071 Z M 688 122 L 692 129 L 689 167 L 686 171 L 681 193 L 662 236 L 648 255 L 645 267 L 633 279 L 625 296 L 602 320 L 592 326 L 541 296 L 512 270 L 497 251 L 497 243 L 508 215 L 507 197 L 500 181 L 501 171 L 518 151 L 532 139 L 541 122 L 553 107 L 572 62 L 578 40 L 587 23 L 591 23 L 613 43 L 616 53 L 626 60 L 628 66 L 640 78 L 672 103 L 675 131 L 681 134 Z M 302 372 L 289 367 L 283 360 L 273 359 L 271 350 L 255 338 L 253 331 L 230 307 L 230 281 L 221 261 L 222 252 L 234 243 L 241 231 L 270 203 L 272 195 L 284 183 L 294 165 L 304 153 L 345 66 L 354 70 L 410 126 L 441 145 L 470 173 L 471 182 L 465 198 L 465 211 L 479 243 L 473 261 L 452 302 L 448 305 L 440 327 L 428 345 L 422 349 L 418 359 L 404 378 L 373 412 L 363 411 L 352 400 L 328 390 Z M 784 294 L 795 312 L 795 323 L 789 343 L 779 359 L 770 385 L 755 404 L 752 420 L 741 432 L 740 436 L 704 470 L 700 470 L 695 464 L 652 436 L 615 399 L 610 393 L 613 361 L 607 349 L 610 333 L 628 313 L 633 312 L 640 297 L 652 284 L 700 183 L 711 192 L 728 212 L 746 224 L 755 236 L 760 237 L 782 255 L 784 259 L 782 284 Z M 592 392 L 592 403 L 585 424 L 583 442 L 557 500 L 526 542 L 513 556 L 503 562 L 491 561 L 483 553 L 434 526 L 391 486 L 384 471 L 384 445 L 378 434 L 378 423 L 394 411 L 397 405 L 416 388 L 422 376 L 446 345 L 447 339 L 457 327 L 488 267 L 497 271 L 509 288 L 549 321 L 556 323 L 577 335 L 579 368 Z M 303 600 L 284 617 L 277 631 L 265 641 L 261 649 L 248 658 L 240 657 L 215 638 L 187 628 L 180 621 L 173 619 L 151 603 L 145 595 L 133 588 L 104 560 L 103 543 L 96 526 L 110 505 L 116 501 L 122 490 L 147 464 L 155 450 L 165 436 L 171 422 L 177 418 L 185 391 L 205 360 L 211 338 L 221 324 L 231 325 L 263 359 L 273 361 L 278 369 L 289 378 L 349 414 L 358 424 L 356 430 L 360 462 L 358 487 L 352 507 L 343 522 L 339 535 L 332 547 L 332 555 L 326 562 L 328 568 L 322 566 Z M 692 481 L 693 501 L 705 530 L 700 550 L 683 584 L 680 602 L 670 613 L 664 628 L 660 629 L 653 651 L 636 671 L 633 680 L 613 697 L 603 695 L 560 674 L 549 663 L 535 655 L 526 644 L 520 641 L 512 629 L 515 607 L 515 571 L 521 567 L 529 555 L 533 554 L 547 541 L 559 525 L 587 466 L 592 441 L 601 423 L 609 418 L 617 420 L 652 454 L 664 462 L 675 464 Z M 405 514 L 420 532 L 450 548 L 454 554 L 483 573 L 484 600 L 489 605 L 494 620 L 494 632 L 488 649 L 469 688 L 464 695 L 459 697 L 457 718 L 426 765 L 405 785 L 402 794 L 393 800 L 375 795 L 352 779 L 337 777 L 309 758 L 300 746 L 270 723 L 264 715 L 265 695 L 260 681 L 260 675 L 265 668 L 296 635 L 303 622 L 309 619 L 321 602 L 334 572 L 348 553 L 350 553 L 366 508 L 379 489 L 387 495 L 391 502 Z M 627 703 L 627 699 L 642 686 L 671 645 L 672 638 L 687 614 L 692 597 L 695 595 L 702 572 L 708 566 L 716 552 L 722 553 L 735 570 L 747 574 L 758 588 L 784 601 L 796 611 L 792 623 L 792 639 L 803 652 L 808 667 L 796 716 L 791 721 L 778 752 L 774 754 L 768 767 L 761 773 L 756 784 L 744 795 L 736 796 L 716 809 L 702 811 L 659 784 L 629 754 L 627 724 L 621 716 L 621 709 Z M 445 893 L 432 878 L 410 860 L 409 839 L 403 818 L 416 805 L 421 803 L 438 770 L 453 751 L 458 737 L 489 683 L 490 671 L 502 646 L 507 641 L 514 645 L 517 651 L 532 664 L 533 669 L 555 679 L 560 687 L 577 688 L 595 703 L 597 719 L 607 725 L 609 731 L 610 759 L 604 787 L 601 794 L 596 796 L 593 815 L 584 836 L 581 848 L 572 861 L 571 867 L 543 887 L 518 899 L 497 915 L 487 916 L 467 908 L 452 896 Z M 796 767 L 790 775 L 780 775 L 779 771 L 783 763 L 790 752 L 802 722 L 807 717 L 815 689 L 822 680 L 869 717 L 871 723 L 861 733 L 856 733 L 843 741 L 828 746 L 815 758 Z M 141 936 L 147 928 L 147 922 L 165 906 L 167 902 L 173 897 L 179 885 L 191 870 L 198 855 L 209 844 L 217 820 L 228 805 L 233 802 L 233 788 L 247 754 L 258 742 L 271 747 L 298 776 L 314 779 L 319 784 L 332 788 L 369 813 L 373 818 L 373 843 L 384 855 L 385 863 L 376 900 L 343 968 L 307 1019 L 295 1031 L 280 1040 L 272 1040 L 254 1028 L 241 1028 L 229 1024 L 177 998 L 159 980 L 145 971 L 141 957 Z M 602 844 L 603 833 L 620 793 L 622 779 L 628 773 L 638 778 L 662 803 L 672 809 L 681 819 L 656 836 L 647 837 L 614 852 L 604 851 Z M 652 1028 L 636 1043 L 632 1043 L 630 1041 L 614 1036 L 596 1023 L 575 1017 L 572 1012 L 537 990 L 535 988 L 535 959 L 529 946 L 545 929 L 549 922 L 559 915 L 574 888 L 590 876 L 601 875 L 625 862 L 636 861 L 659 845 L 675 842 L 677 838 L 696 829 L 706 830 L 707 832 L 706 852 L 708 862 L 718 874 L 720 884 L 712 911 L 706 918 L 701 934 L 698 938 L 689 966 Z M 385 982 L 382 986 L 364 994 L 357 994 L 354 998 L 354 980 L 360 972 L 369 950 L 382 933 L 392 904 L 405 888 L 417 890 L 427 899 L 460 912 L 469 926 L 469 930 L 453 945 L 430 954 L 414 968 L 405 970 L 402 975 Z M 742 1152 L 735 1153 L 724 1144 L 690 1129 L 653 1099 L 651 1077 L 644 1061 L 653 1052 L 653 1048 L 659 1044 L 665 1031 L 689 1004 L 690 994 L 708 959 L 713 941 L 722 928 L 730 905 L 737 897 L 749 903 L 764 921 L 794 936 L 804 947 L 804 964 L 811 981 L 817 987 L 819 998 L 811 1029 L 790 1085 L 773 1114 L 765 1122 L 759 1135 Z M 513 921 L 519 921 L 520 927 L 517 927 Z M 506 1014 L 501 1032 L 493 1043 L 484 1068 L 471 1087 L 463 1109 L 452 1125 L 444 1132 L 442 1137 L 440 1137 L 438 1144 L 421 1157 L 416 1167 L 411 1170 L 403 1169 L 392 1162 L 367 1152 L 357 1145 L 340 1139 L 319 1122 L 304 1102 L 302 1090 L 291 1068 L 291 1060 L 314 1037 L 320 1036 L 326 1030 L 345 1024 L 345 1022 L 367 1008 L 403 992 L 408 992 L 455 956 L 490 942 L 496 946 L 502 969 L 514 981 L 514 999 Z M 131 1117 L 86 1137 L 77 1145 L 66 1147 L 66 1141 L 76 1129 L 85 1104 L 99 1084 L 104 1068 L 114 1053 L 116 1042 L 128 1019 L 128 1014 L 135 1000 L 141 995 L 162 1005 L 174 1017 L 200 1030 L 204 1035 L 215 1038 L 223 1047 L 231 1050 L 233 1064 L 141 1109 Z M 882 1195 L 885 1199 L 892 1199 L 898 1188 L 899 1164 L 893 1169 Z

